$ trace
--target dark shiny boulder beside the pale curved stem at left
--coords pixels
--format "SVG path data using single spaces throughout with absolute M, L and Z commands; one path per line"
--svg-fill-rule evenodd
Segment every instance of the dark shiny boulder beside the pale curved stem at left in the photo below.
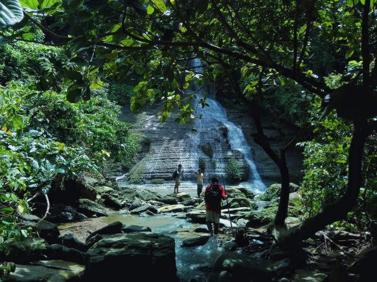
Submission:
M 87 217 L 84 214 L 77 212 L 70 206 L 61 204 L 52 204 L 46 217 L 47 221 L 55 223 L 83 221 L 85 219 Z

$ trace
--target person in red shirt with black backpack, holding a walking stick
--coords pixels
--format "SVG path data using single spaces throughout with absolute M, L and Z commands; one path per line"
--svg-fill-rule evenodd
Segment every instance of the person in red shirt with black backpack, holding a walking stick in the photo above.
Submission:
M 204 201 L 206 202 L 206 222 L 210 235 L 218 234 L 220 214 L 221 214 L 221 200 L 227 199 L 225 190 L 218 184 L 217 177 L 211 179 L 212 184 L 206 187 L 204 192 Z M 212 231 L 212 223 L 214 231 Z

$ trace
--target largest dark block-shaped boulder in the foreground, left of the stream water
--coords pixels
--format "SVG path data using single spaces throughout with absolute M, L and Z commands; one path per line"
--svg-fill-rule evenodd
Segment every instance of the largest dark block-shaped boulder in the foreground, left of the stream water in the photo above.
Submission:
M 135 271 L 140 267 L 142 273 Z M 93 281 L 177 281 L 174 239 L 150 232 L 111 235 L 87 251 L 86 270 Z

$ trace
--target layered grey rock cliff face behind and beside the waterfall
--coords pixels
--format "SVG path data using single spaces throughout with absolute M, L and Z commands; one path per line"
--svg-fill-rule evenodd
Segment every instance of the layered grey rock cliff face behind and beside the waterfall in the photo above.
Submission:
M 254 160 L 264 184 L 269 186 L 279 183 L 278 167 L 253 141 L 253 135 L 256 134 L 253 118 L 247 113 L 235 111 L 227 118 L 227 112 L 217 102 L 210 100 L 209 104 L 210 107 L 204 109 L 198 107 L 200 109 L 196 112 L 196 116 L 202 114 L 203 118 L 196 119 L 194 124 L 175 123 L 174 113 L 165 123 L 160 124 L 159 119 L 155 118 L 159 105 L 146 107 L 136 113 L 131 112 L 128 106 L 123 107 L 120 119 L 132 123 L 131 130 L 143 138 L 143 146 L 135 158 L 136 164 L 129 172 L 131 181 L 137 183 L 139 180 L 148 181 L 157 178 L 171 180 L 172 172 L 179 163 L 182 163 L 183 180 L 194 182 L 196 181 L 194 171 L 198 168 L 199 158 L 205 159 L 205 176 L 212 177 L 224 174 L 227 161 L 235 157 L 240 166 L 241 182 L 245 182 L 250 176 L 253 178 L 256 171 L 250 170 L 248 165 L 250 160 L 245 160 L 244 154 L 239 150 L 245 152 L 251 148 L 252 154 L 249 154 L 249 157 Z M 191 129 L 195 129 L 196 133 L 192 133 Z M 238 136 L 241 134 L 240 129 L 244 136 Z M 273 149 L 278 150 L 288 143 L 277 129 L 266 128 L 265 134 Z M 242 143 L 247 143 L 249 147 L 245 148 L 245 144 Z M 202 145 L 210 145 L 213 148 L 212 158 L 203 152 Z M 288 151 L 287 162 L 291 182 L 300 182 L 303 177 L 301 152 L 297 148 Z

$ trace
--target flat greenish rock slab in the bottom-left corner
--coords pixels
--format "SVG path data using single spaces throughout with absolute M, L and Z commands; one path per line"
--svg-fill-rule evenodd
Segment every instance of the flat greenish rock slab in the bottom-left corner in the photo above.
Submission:
M 2 281 L 15 282 L 64 282 L 64 281 L 81 281 L 84 274 L 85 266 L 66 262 L 56 261 L 38 261 L 33 265 L 16 265 L 16 271 L 9 275 L 2 276 Z

